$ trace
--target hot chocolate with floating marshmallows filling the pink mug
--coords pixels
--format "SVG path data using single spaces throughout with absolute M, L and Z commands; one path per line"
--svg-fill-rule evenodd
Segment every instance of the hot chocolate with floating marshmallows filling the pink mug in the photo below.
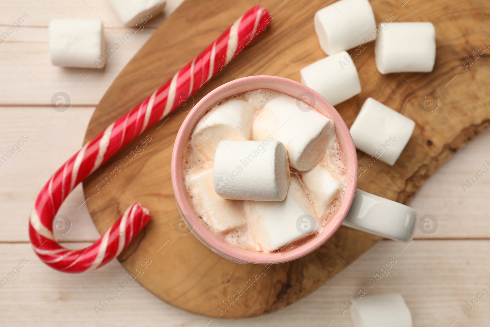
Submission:
M 248 141 L 243 149 L 249 153 L 241 151 L 237 158 L 230 154 L 233 168 L 213 174 L 217 148 L 233 153 L 240 145 L 226 141 Z M 284 170 L 281 155 L 289 161 L 289 170 Z M 216 157 L 220 164 L 227 160 Z M 267 174 L 251 174 L 267 160 L 269 166 L 275 160 L 275 167 L 266 167 L 275 173 L 270 177 L 278 179 L 275 184 Z M 250 177 L 244 178 L 246 174 Z M 346 183 L 333 121 L 305 102 L 269 89 L 237 94 L 209 108 L 186 144 L 183 175 L 199 218 L 224 242 L 259 252 L 287 251 L 319 235 L 339 209 Z M 263 189 L 253 200 L 230 200 L 249 199 L 236 194 L 241 188 L 250 193 L 253 183 Z M 229 185 L 233 197 L 227 199 L 220 190 Z

